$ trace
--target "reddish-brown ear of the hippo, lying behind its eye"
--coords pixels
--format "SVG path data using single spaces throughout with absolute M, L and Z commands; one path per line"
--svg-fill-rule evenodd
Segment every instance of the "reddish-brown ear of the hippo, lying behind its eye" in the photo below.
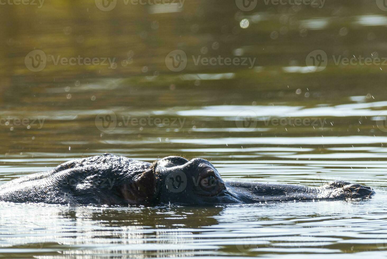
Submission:
M 135 175 L 129 184 L 120 187 L 122 198 L 129 204 L 142 204 L 153 202 L 159 194 L 158 177 L 154 172 L 156 165 L 146 171 Z

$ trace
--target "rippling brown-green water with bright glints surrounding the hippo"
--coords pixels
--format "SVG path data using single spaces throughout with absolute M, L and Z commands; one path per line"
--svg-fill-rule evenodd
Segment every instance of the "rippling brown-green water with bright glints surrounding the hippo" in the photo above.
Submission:
M 217 207 L 1 204 L 0 257 L 387 256 L 387 67 L 359 61 L 387 57 L 381 1 L 260 1 L 251 11 L 224 0 L 150 3 L 1 6 L 1 183 L 110 152 L 202 157 L 226 180 L 346 180 L 377 195 Z M 174 50 L 187 55 L 172 56 L 186 65 L 179 72 L 170 70 Z M 78 56 L 115 61 L 55 65 Z M 251 69 L 195 65 L 199 56 L 256 60 Z M 339 57 L 356 59 L 336 65 Z

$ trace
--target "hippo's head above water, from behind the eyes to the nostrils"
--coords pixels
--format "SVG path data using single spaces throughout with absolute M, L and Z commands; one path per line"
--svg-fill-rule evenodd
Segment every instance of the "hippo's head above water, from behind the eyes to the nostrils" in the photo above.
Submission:
M 348 182 L 332 182 L 321 187 L 253 182 L 224 182 L 207 160 L 188 161 L 168 156 L 155 162 L 139 178 L 135 191 L 147 193 L 142 201 L 154 204 L 230 204 L 315 199 L 370 197 L 370 187 Z M 142 187 L 142 188 L 141 188 Z M 143 192 L 144 193 L 144 192 Z M 138 193 L 137 193 L 138 194 Z M 138 201 L 138 199 L 137 199 Z

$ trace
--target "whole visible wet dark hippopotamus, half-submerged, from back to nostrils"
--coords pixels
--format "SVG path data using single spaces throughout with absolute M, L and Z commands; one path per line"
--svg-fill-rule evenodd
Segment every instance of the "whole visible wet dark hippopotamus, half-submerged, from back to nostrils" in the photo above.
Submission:
M 154 163 L 104 154 L 0 185 L 0 201 L 108 206 L 248 204 L 368 198 L 370 187 L 344 181 L 320 187 L 223 181 L 207 160 L 168 156 Z

